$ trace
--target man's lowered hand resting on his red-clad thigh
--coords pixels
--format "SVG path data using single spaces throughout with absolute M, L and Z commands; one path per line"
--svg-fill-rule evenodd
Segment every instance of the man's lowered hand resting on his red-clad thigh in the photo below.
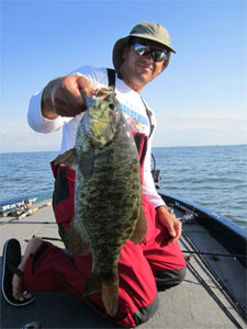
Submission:
M 176 242 L 181 236 L 181 231 L 182 231 L 181 222 L 177 219 L 175 216 L 172 216 L 165 206 L 158 207 L 157 214 L 160 223 L 164 226 L 166 226 L 169 235 L 171 236 L 171 239 L 168 241 L 168 245 Z

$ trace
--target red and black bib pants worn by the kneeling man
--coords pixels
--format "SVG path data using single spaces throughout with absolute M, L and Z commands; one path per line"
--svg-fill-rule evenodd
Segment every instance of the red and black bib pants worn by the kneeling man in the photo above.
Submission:
M 74 216 L 75 172 L 67 167 L 54 168 L 56 188 L 54 211 L 60 232 Z M 186 261 L 178 243 L 167 245 L 169 235 L 158 222 L 155 208 L 143 197 L 148 229 L 145 240 L 135 246 L 127 240 L 119 261 L 119 326 L 135 327 L 150 318 L 158 308 L 158 288 L 179 284 L 186 274 Z M 101 293 L 86 298 L 82 291 L 92 265 L 91 254 L 70 257 L 49 242 L 43 242 L 30 257 L 24 271 L 24 285 L 30 291 L 66 291 L 89 304 L 97 313 L 105 313 Z

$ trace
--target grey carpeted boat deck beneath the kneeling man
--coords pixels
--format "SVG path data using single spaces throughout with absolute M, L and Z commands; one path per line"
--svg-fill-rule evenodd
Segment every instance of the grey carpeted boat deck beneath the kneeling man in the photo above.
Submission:
M 22 252 L 26 240 L 33 235 L 58 238 L 49 203 L 43 202 L 34 205 L 34 208 L 37 211 L 32 216 L 20 219 L 0 218 L 1 259 L 3 245 L 9 238 L 19 239 Z M 183 231 L 180 246 L 184 251 L 198 248 L 206 252 L 228 253 L 205 228 L 198 224 L 184 224 Z M 63 248 L 61 242 L 54 243 Z M 220 281 L 215 280 L 214 273 L 218 275 Z M 227 286 L 240 307 L 246 309 L 246 269 L 236 259 L 190 256 L 184 282 L 159 293 L 158 311 L 138 328 L 247 328 L 243 317 L 225 294 L 221 282 Z M 3 300 L 1 295 L 0 328 L 22 328 L 34 320 L 41 322 L 42 328 L 116 328 L 113 322 L 98 316 L 89 306 L 65 293 L 35 293 L 35 296 L 33 304 L 13 307 Z

